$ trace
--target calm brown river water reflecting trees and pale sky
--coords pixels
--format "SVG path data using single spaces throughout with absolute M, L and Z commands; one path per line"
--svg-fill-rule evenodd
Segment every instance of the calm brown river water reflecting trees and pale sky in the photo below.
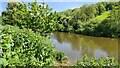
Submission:
M 101 56 L 105 58 L 113 56 L 120 61 L 118 39 L 54 32 L 51 41 L 55 48 L 64 52 L 73 64 L 81 59 L 84 54 L 87 54 L 89 59 L 92 57 L 99 59 Z

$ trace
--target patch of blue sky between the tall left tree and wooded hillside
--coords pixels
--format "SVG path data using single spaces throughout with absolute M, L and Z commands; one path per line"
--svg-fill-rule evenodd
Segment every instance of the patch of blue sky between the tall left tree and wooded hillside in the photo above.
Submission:
M 53 8 L 53 11 L 64 11 L 67 9 L 79 8 L 84 4 L 93 4 L 96 2 L 47 2 Z

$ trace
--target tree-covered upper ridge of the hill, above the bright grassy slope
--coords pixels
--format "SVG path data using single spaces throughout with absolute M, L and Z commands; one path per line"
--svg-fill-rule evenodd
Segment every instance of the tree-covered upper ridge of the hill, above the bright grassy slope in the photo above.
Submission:
M 80 8 L 69 9 L 63 12 L 59 12 L 63 18 L 69 18 L 74 22 L 80 21 L 89 21 L 90 19 L 95 18 L 103 14 L 104 12 L 111 11 L 119 6 L 119 2 L 100 2 L 91 5 L 83 5 Z

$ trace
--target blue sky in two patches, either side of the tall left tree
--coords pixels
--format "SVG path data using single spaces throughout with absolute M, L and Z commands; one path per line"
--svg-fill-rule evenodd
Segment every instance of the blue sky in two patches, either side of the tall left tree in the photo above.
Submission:
M 6 10 L 8 0 L 4 0 L 3 2 L 0 2 L 0 13 Z M 84 4 L 93 4 L 94 2 L 46 2 L 53 11 L 64 11 L 67 9 L 73 9 L 73 8 L 79 8 L 80 6 Z M 1 15 L 1 14 L 0 14 Z

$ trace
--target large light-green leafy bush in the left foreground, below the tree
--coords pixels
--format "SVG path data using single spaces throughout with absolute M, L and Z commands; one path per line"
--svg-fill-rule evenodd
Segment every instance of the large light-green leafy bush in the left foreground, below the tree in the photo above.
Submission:
M 47 37 L 8 25 L 1 27 L 0 31 L 0 49 L 3 51 L 0 65 L 51 66 L 56 60 L 64 60 L 65 55 L 56 51 Z

